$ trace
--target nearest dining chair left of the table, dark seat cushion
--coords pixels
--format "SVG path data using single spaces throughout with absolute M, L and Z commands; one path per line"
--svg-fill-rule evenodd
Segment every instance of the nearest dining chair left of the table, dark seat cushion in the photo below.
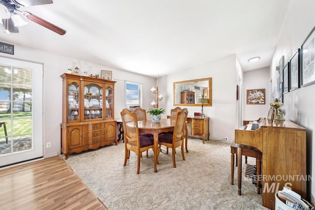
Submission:
M 124 166 L 126 166 L 127 164 L 127 159 L 129 159 L 130 151 L 136 152 L 138 157 L 137 174 L 139 174 L 141 153 L 143 151 L 149 150 L 150 148 L 154 152 L 153 137 L 139 135 L 138 120 L 137 115 L 135 113 L 130 112 L 128 109 L 123 109 L 123 111 L 120 114 L 123 121 L 125 135 Z

